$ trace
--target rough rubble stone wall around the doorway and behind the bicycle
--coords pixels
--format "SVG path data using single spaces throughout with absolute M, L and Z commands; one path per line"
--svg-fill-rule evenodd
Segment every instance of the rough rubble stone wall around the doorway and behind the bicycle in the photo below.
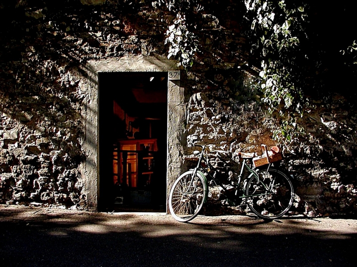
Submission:
M 235 8 L 232 3 L 231 12 Z M 86 159 L 86 63 L 165 56 L 164 33 L 174 16 L 139 0 L 10 1 L 0 4 L 0 12 L 0 203 L 87 209 L 79 171 Z M 194 150 L 189 142 L 198 141 L 221 150 L 212 162 L 234 177 L 238 152 L 259 153 L 261 143 L 274 145 L 277 125 L 249 86 L 239 23 L 223 14 L 202 17 L 198 62 L 181 71 L 182 143 L 186 168 Z M 225 28 L 215 22 L 224 17 Z M 303 119 L 307 134 L 297 145 L 282 147 L 281 165 L 294 176 L 297 193 L 292 213 L 355 214 L 356 112 L 339 95 L 314 104 Z M 214 188 L 206 213 L 241 214 L 244 208 L 231 207 Z

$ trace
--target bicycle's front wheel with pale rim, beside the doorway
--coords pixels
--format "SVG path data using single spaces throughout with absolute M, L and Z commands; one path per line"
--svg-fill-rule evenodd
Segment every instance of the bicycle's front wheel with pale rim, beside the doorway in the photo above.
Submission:
M 195 218 L 206 199 L 207 184 L 201 174 L 188 171 L 175 181 L 169 198 L 171 215 L 179 222 Z

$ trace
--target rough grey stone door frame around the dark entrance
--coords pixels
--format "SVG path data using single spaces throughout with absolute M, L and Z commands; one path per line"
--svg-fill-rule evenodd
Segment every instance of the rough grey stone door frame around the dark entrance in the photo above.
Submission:
M 98 211 L 100 196 L 99 165 L 99 73 L 101 72 L 169 72 L 177 69 L 177 62 L 164 57 L 125 56 L 105 60 L 89 61 L 83 69 L 86 77 L 79 77 L 79 89 L 84 93 L 81 115 L 85 137 L 81 145 L 86 155 L 79 171 L 83 182 L 82 193 L 87 208 Z M 170 72 L 171 73 L 171 72 Z M 78 74 L 79 76 L 79 74 Z M 181 75 L 182 79 L 182 75 Z M 181 80 L 168 79 L 168 132 L 167 132 L 167 201 L 171 185 L 184 169 L 183 149 L 186 147 L 186 104 Z

